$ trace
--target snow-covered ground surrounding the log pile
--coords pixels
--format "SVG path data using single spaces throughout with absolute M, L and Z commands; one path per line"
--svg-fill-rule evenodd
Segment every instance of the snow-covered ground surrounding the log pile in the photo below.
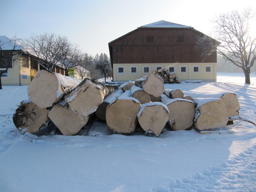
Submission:
M 222 74 L 219 82 L 165 86 L 186 94 L 234 92 L 240 115 L 256 122 L 255 78 L 251 85 L 237 79 Z M 0 191 L 256 191 L 253 124 L 235 121 L 209 135 L 165 129 L 154 137 L 113 134 L 96 122 L 85 136 L 22 135 L 12 116 L 28 99 L 26 89 L 0 90 Z

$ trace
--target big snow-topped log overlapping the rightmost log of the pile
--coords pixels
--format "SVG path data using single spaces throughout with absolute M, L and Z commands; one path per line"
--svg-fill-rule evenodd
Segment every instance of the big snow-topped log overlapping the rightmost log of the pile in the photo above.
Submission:
M 195 127 L 199 130 L 208 130 L 226 126 L 228 111 L 224 102 L 219 98 L 194 98 L 196 106 Z

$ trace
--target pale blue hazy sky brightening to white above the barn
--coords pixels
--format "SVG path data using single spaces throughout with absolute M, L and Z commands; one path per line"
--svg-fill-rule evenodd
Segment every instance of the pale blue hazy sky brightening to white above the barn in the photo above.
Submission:
M 255 1 L 0 0 L 0 35 L 50 32 L 67 36 L 90 55 L 109 55 L 110 41 L 145 24 L 166 20 L 210 35 L 216 15 L 247 7 L 256 10 Z

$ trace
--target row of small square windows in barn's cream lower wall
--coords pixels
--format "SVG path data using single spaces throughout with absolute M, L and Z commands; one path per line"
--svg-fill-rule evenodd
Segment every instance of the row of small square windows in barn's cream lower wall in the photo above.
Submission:
M 163 66 L 156 66 L 156 70 L 162 69 Z M 137 73 L 138 67 L 137 66 L 131 66 L 130 67 L 130 73 Z M 169 72 L 170 73 L 176 73 L 175 66 L 169 66 Z M 180 73 L 187 73 L 187 66 L 180 66 Z M 193 73 L 199 73 L 200 67 L 199 66 L 193 66 Z M 211 66 L 205 66 L 205 72 L 211 73 L 212 67 Z M 125 67 L 124 66 L 118 66 L 118 73 L 125 73 Z M 143 66 L 143 73 L 150 73 L 150 66 Z

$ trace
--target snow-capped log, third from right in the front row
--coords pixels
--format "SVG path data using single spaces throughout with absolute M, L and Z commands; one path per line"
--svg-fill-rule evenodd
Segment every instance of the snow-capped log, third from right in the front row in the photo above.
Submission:
M 170 111 L 168 123 L 173 130 L 187 130 L 193 125 L 195 106 L 192 101 L 180 98 L 170 99 L 163 94 L 161 102 L 167 105 Z

